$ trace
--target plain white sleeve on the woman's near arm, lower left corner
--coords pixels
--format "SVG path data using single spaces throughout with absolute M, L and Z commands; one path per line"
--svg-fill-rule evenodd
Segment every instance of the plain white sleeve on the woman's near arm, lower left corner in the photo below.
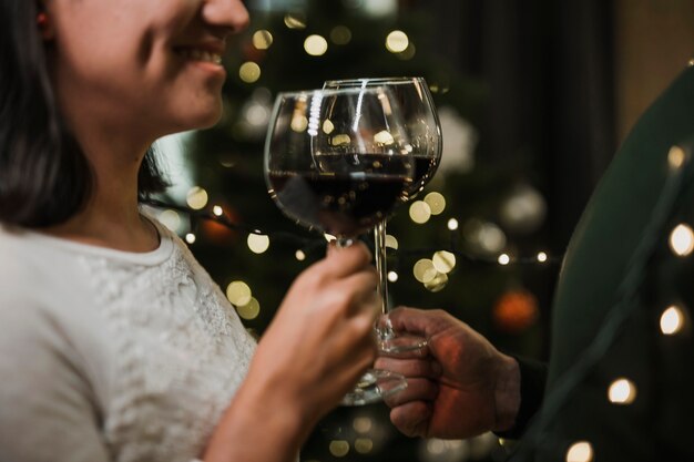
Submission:
M 13 289 L 0 281 L 0 461 L 109 461 L 69 338 Z

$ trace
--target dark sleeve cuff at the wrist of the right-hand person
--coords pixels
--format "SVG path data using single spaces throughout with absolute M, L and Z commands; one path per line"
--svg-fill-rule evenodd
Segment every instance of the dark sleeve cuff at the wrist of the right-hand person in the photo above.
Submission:
M 542 405 L 547 383 L 547 363 L 530 358 L 512 356 L 520 367 L 521 402 L 513 427 L 497 432 L 500 438 L 519 439 L 528 429 L 530 420 Z

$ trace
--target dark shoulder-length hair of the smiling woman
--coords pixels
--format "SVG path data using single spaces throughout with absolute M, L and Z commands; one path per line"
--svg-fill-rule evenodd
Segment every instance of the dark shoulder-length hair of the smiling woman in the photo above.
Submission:
M 32 0 L 0 3 L 0 223 L 60 224 L 93 191 L 86 156 L 58 107 Z M 137 176 L 141 199 L 167 186 L 153 150 Z

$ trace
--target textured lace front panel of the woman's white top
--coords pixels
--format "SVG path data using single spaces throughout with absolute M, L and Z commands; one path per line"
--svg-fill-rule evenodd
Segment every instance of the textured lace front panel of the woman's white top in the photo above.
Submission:
M 155 266 L 82 256 L 116 351 L 104 439 L 113 461 L 200 456 L 246 374 L 255 341 L 174 239 Z

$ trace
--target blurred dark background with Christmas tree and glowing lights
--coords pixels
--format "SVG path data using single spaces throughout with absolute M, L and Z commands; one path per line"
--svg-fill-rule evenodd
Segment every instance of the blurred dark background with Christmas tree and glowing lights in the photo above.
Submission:
M 427 189 L 389 222 L 391 302 L 446 309 L 498 348 L 545 359 L 562 253 L 634 121 L 692 65 L 694 1 L 246 4 L 251 27 L 225 57 L 223 120 L 159 142 L 174 184 L 160 218 L 245 326 L 262 336 L 293 278 L 325 247 L 267 194 L 263 144 L 275 94 L 327 79 L 416 75 L 432 92 L 443 154 Z M 491 433 L 402 437 L 374 404 L 326 417 L 302 462 L 498 461 L 506 451 Z

